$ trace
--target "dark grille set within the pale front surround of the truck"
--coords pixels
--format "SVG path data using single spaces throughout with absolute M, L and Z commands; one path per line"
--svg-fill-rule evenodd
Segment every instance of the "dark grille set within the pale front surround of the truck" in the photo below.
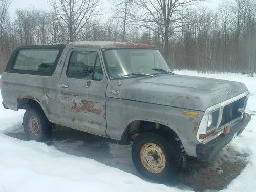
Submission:
M 237 119 L 238 117 L 241 117 L 243 110 L 240 109 L 244 108 L 246 104 L 245 102 L 246 96 L 228 105 L 225 105 L 223 108 L 222 120 L 219 127 L 226 123 L 230 123 L 232 120 Z

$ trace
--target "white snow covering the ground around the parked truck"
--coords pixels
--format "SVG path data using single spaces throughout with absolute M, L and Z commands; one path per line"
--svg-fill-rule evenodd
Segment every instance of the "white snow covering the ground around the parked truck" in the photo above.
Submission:
M 256 78 L 240 74 L 197 74 L 194 71 L 176 71 L 177 74 L 195 75 L 225 80 L 240 81 L 251 91 L 247 110 L 256 111 Z M 0 103 L 2 98 L 0 97 Z M 5 133 L 19 133 L 22 130 L 24 111 L 18 112 L 3 109 L 0 105 L 0 191 L 180 191 L 177 187 L 166 186 L 145 181 L 136 175 L 131 164 L 130 154 L 127 162 L 121 164 L 104 160 L 105 153 L 100 151 L 94 158 L 93 150 L 87 150 L 88 156 L 79 153 L 67 153 L 63 148 L 83 147 L 84 144 L 74 142 L 67 146 L 65 141 L 45 143 L 23 141 L 5 135 Z M 256 191 L 256 116 L 244 132 L 236 137 L 228 147 L 240 154 L 249 154 L 248 163 L 240 175 L 234 179 L 223 191 Z M 97 141 L 95 141 L 97 143 Z M 86 143 L 88 145 L 88 143 Z M 127 145 L 117 147 L 110 143 L 112 156 L 118 158 L 118 153 L 127 153 Z M 95 145 L 94 145 L 95 147 Z M 100 146 L 100 144 L 98 145 Z M 226 147 L 226 148 L 228 148 Z M 88 148 L 88 147 L 87 147 Z M 60 149 L 61 151 L 59 151 Z M 227 150 L 222 151 L 225 154 Z M 70 155 L 75 154 L 75 155 Z M 92 157 L 93 159 L 87 158 Z M 228 156 L 227 156 L 228 157 Z M 98 161 L 96 161 L 98 160 Z M 121 158 L 120 161 L 125 161 Z M 101 162 L 101 163 L 100 163 Z M 110 165 L 110 166 L 107 166 Z M 122 168 L 121 166 L 125 166 Z M 117 167 L 117 168 L 114 168 Z M 128 170 L 129 167 L 132 171 Z M 119 169 L 118 169 L 119 168 Z M 121 170 L 120 170 L 121 169 Z M 123 170 L 126 170 L 127 173 Z M 131 174 L 134 173 L 134 174 Z M 221 173 L 220 173 L 221 174 Z M 207 183 L 205 183 L 207 185 Z M 182 188 L 182 187 L 179 187 Z M 184 187 L 188 190 L 188 187 Z M 185 190 L 184 189 L 184 190 Z

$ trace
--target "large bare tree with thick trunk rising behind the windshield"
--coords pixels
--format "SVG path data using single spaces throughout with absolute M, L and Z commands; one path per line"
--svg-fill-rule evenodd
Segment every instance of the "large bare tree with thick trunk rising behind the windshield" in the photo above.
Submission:
M 137 4 L 143 9 L 142 15 L 135 19 L 150 24 L 152 30 L 160 30 L 164 39 L 164 56 L 169 61 L 169 37 L 171 30 L 181 27 L 183 12 L 188 6 L 203 0 L 138 0 Z M 144 15 L 144 16 L 143 16 Z M 141 19 L 140 19 L 141 18 Z

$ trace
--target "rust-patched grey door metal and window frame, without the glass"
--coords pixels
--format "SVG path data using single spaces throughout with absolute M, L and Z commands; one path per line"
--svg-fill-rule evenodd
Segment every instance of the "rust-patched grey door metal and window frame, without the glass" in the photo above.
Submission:
M 59 82 L 60 122 L 64 126 L 106 136 L 105 94 L 108 80 L 103 67 L 104 77 L 100 81 L 67 77 L 68 62 L 73 51 L 97 51 L 99 54 L 99 49 L 74 48 L 69 51 Z

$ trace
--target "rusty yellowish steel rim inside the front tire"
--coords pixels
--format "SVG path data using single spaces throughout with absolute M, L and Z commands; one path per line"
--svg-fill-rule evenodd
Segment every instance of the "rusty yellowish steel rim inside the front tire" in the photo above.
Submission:
M 165 154 L 155 143 L 145 143 L 140 150 L 142 165 L 151 173 L 157 174 L 164 170 L 166 165 Z

